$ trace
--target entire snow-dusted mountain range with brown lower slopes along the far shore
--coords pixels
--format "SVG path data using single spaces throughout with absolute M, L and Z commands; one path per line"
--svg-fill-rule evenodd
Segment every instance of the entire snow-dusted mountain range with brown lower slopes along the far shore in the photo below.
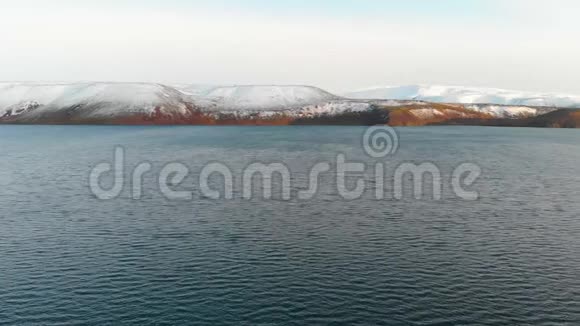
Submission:
M 544 102 L 524 100 L 507 91 L 496 90 L 496 97 L 467 88 L 368 92 L 346 99 L 312 86 L 0 83 L 0 123 L 573 127 L 580 122 L 578 111 L 551 106 L 434 103 L 500 102 L 501 94 L 504 102 L 548 104 L 547 97 Z M 422 95 L 411 96 L 416 92 Z M 401 99 L 405 97 L 412 99 Z

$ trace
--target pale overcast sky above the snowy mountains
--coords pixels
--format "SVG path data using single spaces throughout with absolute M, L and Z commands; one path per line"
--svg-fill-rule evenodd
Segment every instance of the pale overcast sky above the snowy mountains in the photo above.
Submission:
M 580 94 L 574 0 L 0 0 L 0 80 Z

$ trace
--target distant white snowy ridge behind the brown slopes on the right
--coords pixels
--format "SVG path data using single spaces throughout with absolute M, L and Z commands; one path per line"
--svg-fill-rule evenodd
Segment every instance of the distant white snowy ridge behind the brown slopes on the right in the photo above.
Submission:
M 439 103 L 486 103 L 519 106 L 580 108 L 580 96 L 532 93 L 496 88 L 463 86 L 388 86 L 363 89 L 345 94 L 353 99 L 419 100 Z

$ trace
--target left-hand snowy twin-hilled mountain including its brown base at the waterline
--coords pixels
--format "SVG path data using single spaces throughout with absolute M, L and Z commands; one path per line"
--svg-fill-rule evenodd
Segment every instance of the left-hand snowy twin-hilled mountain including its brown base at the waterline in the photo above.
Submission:
M 4 123 L 288 124 L 370 108 L 312 86 L 0 83 Z

